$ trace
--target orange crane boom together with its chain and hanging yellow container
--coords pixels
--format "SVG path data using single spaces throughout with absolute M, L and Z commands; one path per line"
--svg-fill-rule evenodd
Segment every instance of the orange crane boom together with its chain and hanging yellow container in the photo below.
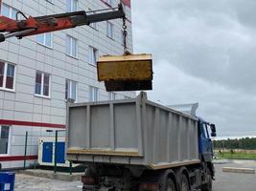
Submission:
M 117 18 L 123 18 L 125 54 L 100 58 L 97 63 L 98 79 L 105 81 L 107 92 L 151 90 L 151 55 L 128 53 L 126 13 L 122 4 L 117 8 L 98 11 L 74 11 L 37 17 L 27 17 L 18 11 L 16 19 L 0 16 L 0 42 L 13 36 L 21 39 L 24 36 L 57 32 Z

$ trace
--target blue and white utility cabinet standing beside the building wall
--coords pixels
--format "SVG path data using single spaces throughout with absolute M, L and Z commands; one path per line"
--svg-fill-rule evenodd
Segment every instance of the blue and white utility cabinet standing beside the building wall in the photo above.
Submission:
M 55 165 L 55 138 L 39 138 L 38 163 L 44 166 Z M 65 138 L 58 138 L 57 165 L 69 167 L 69 161 L 65 160 Z

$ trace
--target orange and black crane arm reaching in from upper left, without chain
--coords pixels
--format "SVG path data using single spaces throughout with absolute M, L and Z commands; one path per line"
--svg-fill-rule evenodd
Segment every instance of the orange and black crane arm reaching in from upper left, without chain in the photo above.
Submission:
M 90 14 L 88 14 L 91 12 Z M 0 42 L 7 38 L 16 36 L 22 38 L 45 32 L 57 32 L 61 30 L 71 29 L 78 26 L 89 25 L 117 18 L 126 18 L 126 13 L 120 4 L 118 8 L 105 9 L 99 11 L 75 11 L 60 14 L 52 14 L 38 17 L 26 17 L 22 12 L 23 20 L 13 20 L 6 16 L 0 16 Z

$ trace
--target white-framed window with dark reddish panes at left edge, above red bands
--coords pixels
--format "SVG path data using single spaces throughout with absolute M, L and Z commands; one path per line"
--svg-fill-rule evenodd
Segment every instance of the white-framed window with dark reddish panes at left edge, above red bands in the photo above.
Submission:
M 0 61 L 0 88 L 14 89 L 15 65 Z

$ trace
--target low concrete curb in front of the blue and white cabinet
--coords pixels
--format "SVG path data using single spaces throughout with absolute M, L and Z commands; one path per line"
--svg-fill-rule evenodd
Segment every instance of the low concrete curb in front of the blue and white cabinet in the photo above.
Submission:
M 24 171 L 19 171 L 19 173 L 29 175 L 29 176 L 34 176 L 34 177 L 64 180 L 64 181 L 80 181 L 81 175 L 84 174 L 84 173 L 74 173 L 72 175 L 69 175 L 67 173 L 61 173 L 61 172 L 54 174 L 53 171 L 47 171 L 47 170 L 24 170 Z

